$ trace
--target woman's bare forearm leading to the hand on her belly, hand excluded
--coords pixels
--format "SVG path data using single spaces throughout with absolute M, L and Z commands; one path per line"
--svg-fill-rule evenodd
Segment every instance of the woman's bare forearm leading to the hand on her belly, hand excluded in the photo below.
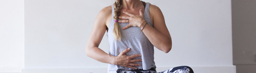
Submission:
M 91 47 L 86 49 L 86 55 L 102 63 L 115 64 L 114 57 L 98 47 Z

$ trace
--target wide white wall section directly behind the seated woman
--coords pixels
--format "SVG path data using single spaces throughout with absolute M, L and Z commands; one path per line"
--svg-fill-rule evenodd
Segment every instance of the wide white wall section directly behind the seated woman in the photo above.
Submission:
M 231 0 L 145 2 L 162 10 L 173 40 L 167 54 L 155 48 L 158 72 L 187 65 L 197 73 L 234 73 Z M 87 57 L 85 47 L 98 12 L 112 3 L 25 0 L 24 73 L 106 72 L 108 65 Z M 108 53 L 108 45 L 105 33 L 99 48 Z

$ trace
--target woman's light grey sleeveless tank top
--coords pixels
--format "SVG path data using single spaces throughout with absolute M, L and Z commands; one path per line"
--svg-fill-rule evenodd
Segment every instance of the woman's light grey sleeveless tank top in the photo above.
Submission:
M 144 11 L 144 20 L 148 22 L 146 25 L 151 25 L 152 22 L 149 16 L 149 4 L 146 3 L 145 11 Z M 114 17 L 114 6 L 112 7 L 112 18 L 111 22 L 108 28 L 107 37 L 109 42 L 109 54 L 112 56 L 118 56 L 124 49 L 131 48 L 127 53 L 125 53 L 127 56 L 131 56 L 133 54 L 141 54 L 141 57 L 136 57 L 133 59 L 142 59 L 142 62 L 135 62 L 137 64 L 141 64 L 141 66 L 134 66 L 137 69 L 143 69 L 148 70 L 152 67 L 156 67 L 154 62 L 154 45 L 147 39 L 145 34 L 141 33 L 141 29 L 139 27 L 129 27 L 127 29 L 122 29 L 126 25 L 129 25 L 129 23 L 118 23 L 121 30 L 121 41 L 115 40 L 113 35 L 113 28 L 115 20 Z M 120 20 L 120 19 L 118 19 Z M 108 65 L 108 73 L 116 73 L 116 70 L 122 69 L 122 70 L 135 70 L 132 68 L 127 68 L 119 65 Z

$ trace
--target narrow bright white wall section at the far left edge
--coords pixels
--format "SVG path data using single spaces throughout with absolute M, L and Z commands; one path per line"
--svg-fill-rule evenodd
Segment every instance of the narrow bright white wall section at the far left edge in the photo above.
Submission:
M 24 68 L 24 1 L 0 1 L 0 73 Z

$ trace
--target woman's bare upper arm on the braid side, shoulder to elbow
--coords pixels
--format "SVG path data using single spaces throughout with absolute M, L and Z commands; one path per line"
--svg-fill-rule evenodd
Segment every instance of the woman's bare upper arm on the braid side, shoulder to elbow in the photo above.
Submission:
M 103 8 L 97 15 L 91 34 L 89 35 L 86 47 L 98 47 L 106 32 L 106 21 L 111 14 L 111 6 Z

